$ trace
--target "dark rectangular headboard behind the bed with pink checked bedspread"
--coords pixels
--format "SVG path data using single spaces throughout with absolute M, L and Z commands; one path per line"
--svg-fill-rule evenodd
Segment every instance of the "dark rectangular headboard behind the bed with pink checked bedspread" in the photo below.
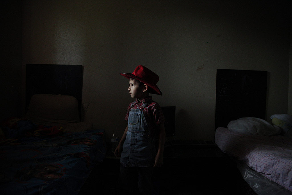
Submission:
M 265 120 L 267 71 L 217 69 L 215 130 L 231 120 Z

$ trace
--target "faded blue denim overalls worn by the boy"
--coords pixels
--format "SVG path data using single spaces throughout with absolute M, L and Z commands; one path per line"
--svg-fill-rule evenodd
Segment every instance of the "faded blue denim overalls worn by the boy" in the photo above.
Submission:
M 134 106 L 134 103 L 131 107 Z M 150 137 L 147 122 L 140 109 L 131 109 L 128 117 L 128 131 L 121 153 L 121 165 L 124 167 L 150 167 L 154 165 L 155 142 Z

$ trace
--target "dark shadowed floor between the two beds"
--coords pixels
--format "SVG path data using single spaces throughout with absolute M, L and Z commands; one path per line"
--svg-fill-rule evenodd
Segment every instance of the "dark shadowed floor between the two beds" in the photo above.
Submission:
M 98 176 L 102 175 L 102 177 Z M 118 194 L 119 159 L 107 155 L 81 194 Z M 251 194 L 236 165 L 215 145 L 165 148 L 164 165 L 154 171 L 157 194 Z

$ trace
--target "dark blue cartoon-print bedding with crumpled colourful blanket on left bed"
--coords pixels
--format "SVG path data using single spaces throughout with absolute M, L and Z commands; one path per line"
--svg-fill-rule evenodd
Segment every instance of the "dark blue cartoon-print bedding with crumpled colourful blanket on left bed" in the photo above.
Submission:
M 103 130 L 72 133 L 29 120 L 1 129 L 1 194 L 78 194 L 106 153 Z

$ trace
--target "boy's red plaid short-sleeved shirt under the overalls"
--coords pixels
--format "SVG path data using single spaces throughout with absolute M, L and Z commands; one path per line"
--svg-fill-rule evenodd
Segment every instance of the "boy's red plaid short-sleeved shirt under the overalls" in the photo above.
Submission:
M 159 106 L 157 102 L 152 100 L 152 96 L 142 99 L 141 101 L 136 99 L 136 101 L 130 103 L 128 106 L 125 120 L 128 121 L 129 112 L 131 109 L 140 109 L 143 103 L 148 104 L 145 108 L 143 108 L 143 114 L 145 116 L 145 120 L 147 122 L 147 126 L 149 128 L 150 134 L 154 136 L 157 130 L 156 125 L 164 123 L 165 119 L 164 119 L 164 115 L 162 113 L 161 107 Z

